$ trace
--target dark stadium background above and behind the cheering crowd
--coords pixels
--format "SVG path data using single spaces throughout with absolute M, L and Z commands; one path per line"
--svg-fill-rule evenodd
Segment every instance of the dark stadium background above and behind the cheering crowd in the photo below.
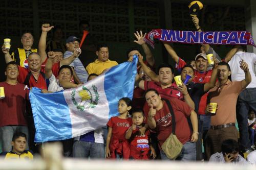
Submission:
M 79 20 L 86 19 L 91 25 L 91 34 L 98 42 L 106 42 L 110 46 L 110 59 L 118 63 L 126 61 L 126 51 L 137 46 L 133 41 L 136 30 L 143 32 L 152 29 L 195 30 L 188 5 L 191 1 L 170 0 L 88 0 L 88 1 L 0 1 L 0 39 L 11 38 L 11 51 L 21 47 L 20 37 L 23 32 L 30 31 L 34 35 L 33 48 L 37 48 L 41 24 L 50 22 L 53 26 L 61 26 L 63 40 L 79 32 Z M 245 1 L 201 1 L 204 9 L 199 15 L 200 25 L 206 22 L 206 15 L 211 13 L 214 19 L 222 19 L 214 27 L 214 31 L 245 30 Z M 227 15 L 223 18 L 225 11 Z M 202 21 L 203 19 L 203 21 Z M 207 26 L 205 26 L 205 29 Z M 202 27 L 203 30 L 205 30 Z M 209 31 L 209 30 L 208 30 Z M 48 38 L 51 38 L 49 33 Z M 174 44 L 177 54 L 184 60 L 194 59 L 199 45 Z M 221 58 L 231 46 L 214 46 Z M 151 48 L 156 65 L 170 61 L 163 45 L 157 42 Z M 86 57 L 86 56 L 82 56 Z M 91 58 L 90 61 L 95 60 Z M 86 63 L 87 65 L 88 63 Z M 5 80 L 5 60 L 0 54 L 0 81 Z

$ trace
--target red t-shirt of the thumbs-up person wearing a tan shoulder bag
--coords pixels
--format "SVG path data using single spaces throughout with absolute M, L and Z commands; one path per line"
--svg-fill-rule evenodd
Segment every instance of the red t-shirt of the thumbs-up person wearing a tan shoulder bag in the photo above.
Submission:
M 176 136 L 181 143 L 185 143 L 191 138 L 191 130 L 187 122 L 187 117 L 189 117 L 191 109 L 185 102 L 178 99 L 169 99 L 170 104 L 173 107 L 175 119 L 176 119 Z M 157 127 L 154 131 L 157 132 L 157 138 L 159 140 L 160 146 L 172 133 L 172 115 L 170 114 L 167 104 L 163 101 L 163 108 L 158 110 L 154 116 Z M 147 116 L 146 116 L 147 121 Z

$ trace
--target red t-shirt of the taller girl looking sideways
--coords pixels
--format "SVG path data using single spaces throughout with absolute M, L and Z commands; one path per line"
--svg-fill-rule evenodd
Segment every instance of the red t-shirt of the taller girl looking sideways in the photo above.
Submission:
M 106 124 L 112 128 L 112 139 L 125 140 L 126 131 L 133 124 L 132 118 L 122 119 L 117 116 L 111 117 L 109 122 Z M 112 140 L 111 139 L 111 140 Z

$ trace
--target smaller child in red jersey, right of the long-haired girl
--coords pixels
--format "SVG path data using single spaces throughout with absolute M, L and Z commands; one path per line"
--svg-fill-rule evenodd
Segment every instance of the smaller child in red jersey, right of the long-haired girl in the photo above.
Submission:
M 131 113 L 133 124 L 127 130 L 125 134 L 126 139 L 130 139 L 130 159 L 142 159 L 147 160 L 151 155 L 153 159 L 156 158 L 155 149 L 150 146 L 150 131 L 146 130 L 144 134 L 141 134 L 141 128 L 144 124 L 144 112 L 141 109 L 135 109 Z M 150 151 L 151 150 L 151 154 Z M 149 155 L 150 154 L 150 155 Z

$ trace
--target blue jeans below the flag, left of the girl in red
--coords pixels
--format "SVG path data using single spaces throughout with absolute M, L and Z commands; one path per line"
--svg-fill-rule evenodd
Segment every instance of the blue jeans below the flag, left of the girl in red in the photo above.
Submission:
M 104 159 L 104 143 L 94 143 L 76 140 L 73 144 L 73 156 L 75 158 Z

